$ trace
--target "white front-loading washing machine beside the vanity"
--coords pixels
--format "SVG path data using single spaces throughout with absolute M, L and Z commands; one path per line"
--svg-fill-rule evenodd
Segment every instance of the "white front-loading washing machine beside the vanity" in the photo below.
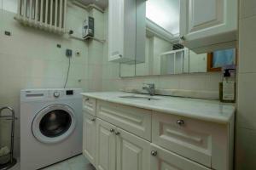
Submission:
M 20 170 L 36 170 L 82 153 L 81 89 L 20 92 Z

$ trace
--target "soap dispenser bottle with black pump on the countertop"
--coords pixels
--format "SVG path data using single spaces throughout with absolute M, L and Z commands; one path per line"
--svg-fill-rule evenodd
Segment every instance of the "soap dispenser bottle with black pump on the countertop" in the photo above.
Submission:
M 223 82 L 219 82 L 219 100 L 224 103 L 236 102 L 236 82 L 230 71 L 235 69 L 225 69 Z

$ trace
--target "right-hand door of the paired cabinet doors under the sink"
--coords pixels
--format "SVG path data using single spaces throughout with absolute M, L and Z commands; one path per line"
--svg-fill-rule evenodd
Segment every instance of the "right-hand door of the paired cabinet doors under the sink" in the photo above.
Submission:
M 150 143 L 118 128 L 117 170 L 148 170 Z

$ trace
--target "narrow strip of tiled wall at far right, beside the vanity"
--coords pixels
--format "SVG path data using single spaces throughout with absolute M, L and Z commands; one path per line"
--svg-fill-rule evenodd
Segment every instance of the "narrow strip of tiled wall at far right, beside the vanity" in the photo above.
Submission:
M 256 168 L 256 1 L 240 0 L 236 169 Z

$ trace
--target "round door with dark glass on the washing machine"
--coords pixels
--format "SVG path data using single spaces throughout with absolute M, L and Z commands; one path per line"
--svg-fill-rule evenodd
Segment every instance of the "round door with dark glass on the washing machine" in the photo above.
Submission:
M 71 135 L 76 116 L 67 105 L 49 105 L 39 111 L 32 122 L 32 133 L 43 143 L 59 143 Z

